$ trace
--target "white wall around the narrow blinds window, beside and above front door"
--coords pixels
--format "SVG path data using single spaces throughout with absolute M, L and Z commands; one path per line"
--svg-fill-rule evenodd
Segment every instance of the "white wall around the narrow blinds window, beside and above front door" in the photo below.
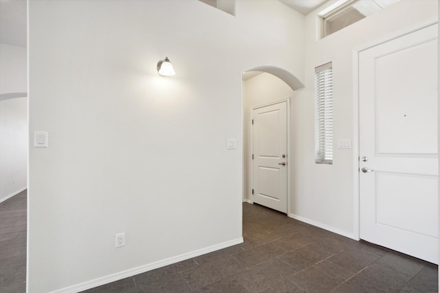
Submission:
M 327 3 L 322 8 L 331 5 Z M 322 9 L 321 8 L 321 9 Z M 355 149 L 339 150 L 338 139 L 355 145 L 353 49 L 437 16 L 437 0 L 401 0 L 358 23 L 316 40 L 317 14 L 308 14 L 305 31 L 305 88 L 292 99 L 292 216 L 349 237 L 358 237 L 358 206 L 353 182 Z M 314 163 L 314 68 L 333 62 L 333 165 Z M 295 165 L 296 164 L 296 165 Z M 317 184 L 319 182 L 319 184 Z

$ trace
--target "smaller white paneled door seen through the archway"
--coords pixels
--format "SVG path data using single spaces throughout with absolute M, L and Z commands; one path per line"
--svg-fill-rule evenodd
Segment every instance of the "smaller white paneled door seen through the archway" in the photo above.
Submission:
M 254 202 L 287 213 L 287 102 L 252 110 Z

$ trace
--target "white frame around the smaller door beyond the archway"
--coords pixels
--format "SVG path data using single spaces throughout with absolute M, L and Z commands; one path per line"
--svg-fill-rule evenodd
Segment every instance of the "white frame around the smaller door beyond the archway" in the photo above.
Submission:
M 290 157 L 292 156 L 291 152 L 290 152 L 290 97 L 287 97 L 285 99 L 279 99 L 276 100 L 274 102 L 268 102 L 265 104 L 259 104 L 256 106 L 252 106 L 250 108 L 250 121 L 248 121 L 248 123 L 250 124 L 250 143 L 249 143 L 249 154 L 252 156 L 252 152 L 254 150 L 254 131 L 252 130 L 252 119 L 254 119 L 254 110 L 258 109 L 258 108 L 262 108 L 265 106 L 271 106 L 274 104 L 280 104 L 286 102 L 287 103 L 287 216 L 290 215 L 290 164 L 291 164 L 291 160 Z M 254 187 L 254 160 L 250 160 L 250 164 L 247 166 L 248 169 L 250 169 L 249 172 L 249 178 L 248 178 L 248 183 L 250 186 L 250 190 L 246 191 L 249 193 L 249 198 L 250 200 L 248 200 L 249 203 L 254 204 L 254 195 L 252 194 L 252 187 Z

